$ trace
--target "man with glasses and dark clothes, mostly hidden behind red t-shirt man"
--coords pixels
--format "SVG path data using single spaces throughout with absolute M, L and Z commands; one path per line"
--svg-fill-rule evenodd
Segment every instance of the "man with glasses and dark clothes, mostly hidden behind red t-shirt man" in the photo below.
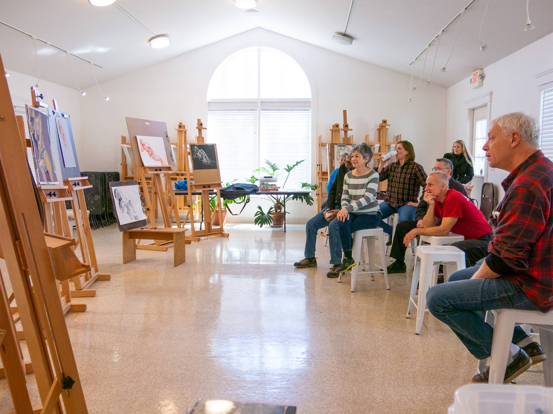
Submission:
M 467 197 L 467 190 L 465 190 L 463 184 L 455 181 L 455 179 L 451 177 L 453 163 L 450 160 L 447 160 L 447 158 L 438 158 L 434 164 L 434 168 L 432 168 L 432 171 L 442 171 L 446 173 L 447 178 L 449 179 L 449 188 L 457 190 Z M 392 242 L 392 250 L 390 251 L 390 257 L 394 258 L 395 262 L 388 266 L 388 274 L 405 273 L 407 270 L 407 267 L 405 266 L 405 251 L 407 250 L 407 247 L 405 247 L 403 239 L 411 230 L 416 228 L 422 229 L 422 219 L 426 214 L 426 210 L 428 210 L 428 203 L 422 199 L 423 196 L 424 194 L 420 197 L 419 206 L 417 207 L 415 213 L 415 220 L 402 221 L 395 228 L 395 237 Z

